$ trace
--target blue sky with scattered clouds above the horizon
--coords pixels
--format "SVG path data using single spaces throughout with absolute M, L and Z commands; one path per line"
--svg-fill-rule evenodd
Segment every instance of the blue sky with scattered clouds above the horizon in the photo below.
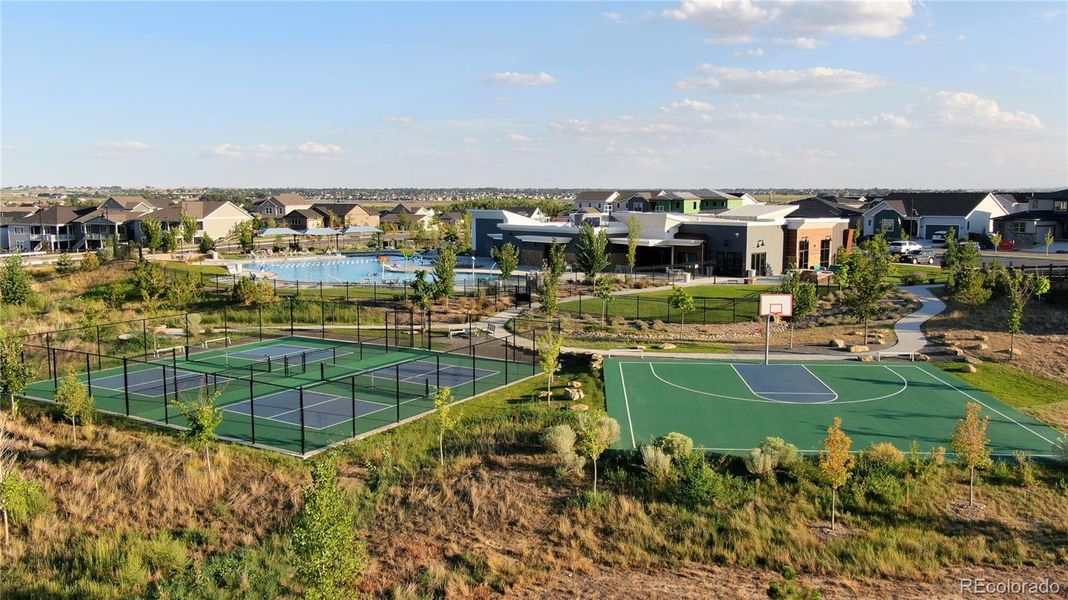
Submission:
M 3 2 L 0 178 L 1065 186 L 1066 6 Z

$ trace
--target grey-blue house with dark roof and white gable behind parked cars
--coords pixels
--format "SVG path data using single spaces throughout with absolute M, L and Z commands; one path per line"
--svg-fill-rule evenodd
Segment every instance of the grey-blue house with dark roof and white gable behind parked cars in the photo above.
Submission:
M 893 192 L 864 210 L 864 235 L 882 233 L 897 239 L 905 233 L 930 239 L 951 228 L 961 238 L 989 235 L 994 218 L 1010 210 L 990 192 Z

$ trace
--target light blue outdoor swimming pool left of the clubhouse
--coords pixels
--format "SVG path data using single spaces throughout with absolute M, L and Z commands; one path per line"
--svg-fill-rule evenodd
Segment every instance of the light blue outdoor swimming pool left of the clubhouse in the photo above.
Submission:
M 246 271 L 268 271 L 278 275 L 278 279 L 285 281 L 299 281 L 301 283 L 384 283 L 412 281 L 415 273 L 412 271 L 390 271 L 390 266 L 398 268 L 405 267 L 405 259 L 402 256 L 390 256 L 390 263 L 381 263 L 377 256 L 345 256 L 344 258 L 308 258 L 284 262 L 257 260 L 245 263 L 241 268 Z M 407 262 L 409 268 L 425 267 L 433 271 L 433 262 L 426 258 L 411 258 Z M 462 268 L 462 258 L 457 267 Z M 492 274 L 471 274 L 456 273 L 456 281 L 474 280 L 496 280 Z

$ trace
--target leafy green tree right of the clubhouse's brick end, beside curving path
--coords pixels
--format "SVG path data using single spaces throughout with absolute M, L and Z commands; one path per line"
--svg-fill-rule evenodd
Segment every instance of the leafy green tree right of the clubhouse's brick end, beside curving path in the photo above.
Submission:
M 879 315 L 882 300 L 893 288 L 885 281 L 894 269 L 890 247 L 879 234 L 845 253 L 841 264 L 844 268 L 838 271 L 838 281 L 847 286 L 843 305 L 847 313 L 864 321 L 864 340 L 867 340 L 868 320 Z

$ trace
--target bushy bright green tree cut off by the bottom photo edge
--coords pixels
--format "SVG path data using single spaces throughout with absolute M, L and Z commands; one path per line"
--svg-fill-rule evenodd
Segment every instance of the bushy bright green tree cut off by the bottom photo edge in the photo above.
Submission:
M 337 485 L 336 465 L 329 460 L 312 465 L 312 487 L 294 519 L 290 544 L 304 598 L 351 597 L 366 568 L 367 549 L 356 537 L 356 512 Z

